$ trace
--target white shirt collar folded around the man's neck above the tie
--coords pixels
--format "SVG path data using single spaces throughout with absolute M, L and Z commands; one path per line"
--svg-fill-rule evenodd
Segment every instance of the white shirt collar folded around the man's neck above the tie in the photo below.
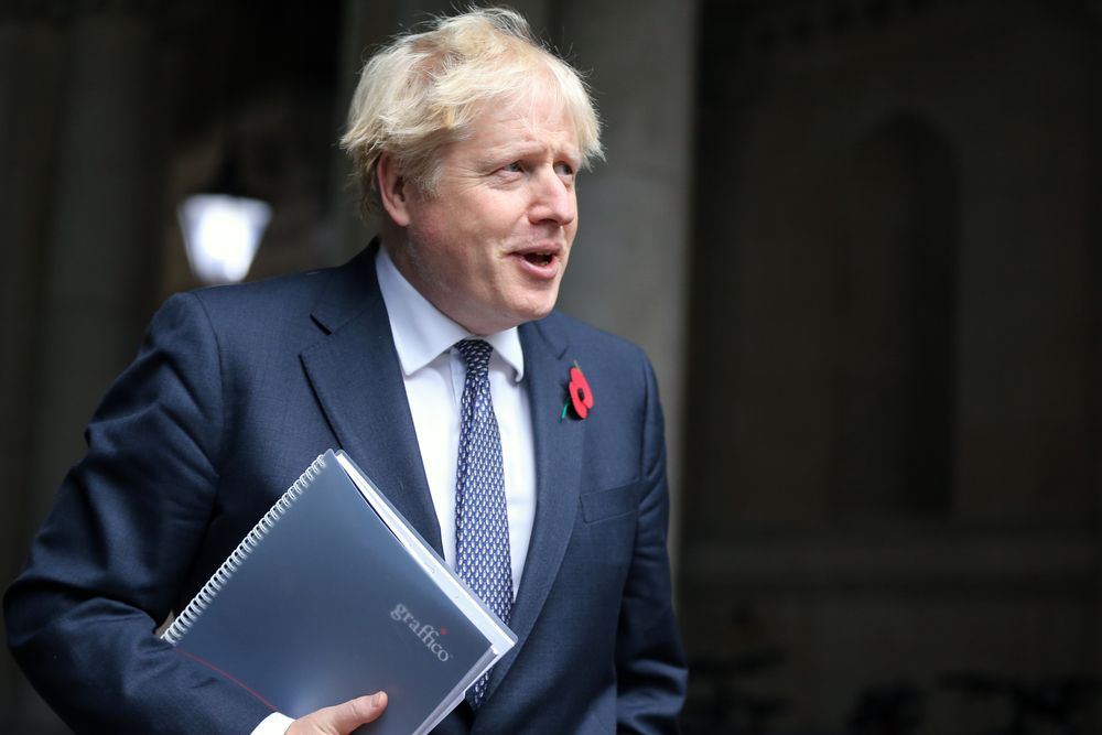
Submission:
M 395 337 L 398 359 L 407 377 L 451 349 L 460 339 L 476 336 L 429 303 L 398 271 L 386 246 L 379 248 L 375 258 L 375 272 L 379 279 L 382 302 L 390 316 L 390 331 Z M 525 377 L 525 354 L 520 348 L 517 327 L 477 336 L 494 347 L 494 352 L 512 368 L 512 379 L 520 382 Z

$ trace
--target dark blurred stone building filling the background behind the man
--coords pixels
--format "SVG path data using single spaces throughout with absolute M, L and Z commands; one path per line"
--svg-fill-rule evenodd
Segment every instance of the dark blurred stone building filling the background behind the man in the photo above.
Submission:
M 590 83 L 561 306 L 659 372 L 688 733 L 1102 732 L 1102 3 L 516 0 Z M 337 149 L 415 0 L 0 0 L 0 574 L 165 296 L 372 226 Z M 0 732 L 65 732 L 0 655 Z M 1071 731 L 1068 731 L 1071 732 Z

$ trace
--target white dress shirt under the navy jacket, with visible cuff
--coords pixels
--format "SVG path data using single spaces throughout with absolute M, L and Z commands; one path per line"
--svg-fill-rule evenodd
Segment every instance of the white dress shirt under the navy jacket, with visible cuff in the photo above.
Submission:
M 455 467 L 460 452 L 460 401 L 466 366 L 453 345 L 475 335 L 429 303 L 398 272 L 385 247 L 379 249 L 375 259 L 375 271 L 390 316 L 390 331 L 401 363 L 421 462 L 440 523 L 444 561 L 454 570 Z M 528 391 L 523 383 L 525 355 L 516 327 L 477 336 L 494 347 L 489 360 L 489 385 L 501 435 L 512 593 L 516 595 L 536 518 L 536 450 Z M 387 488 L 380 489 L 386 491 Z M 282 735 L 291 722 L 283 714 L 272 713 L 252 731 L 252 735 Z

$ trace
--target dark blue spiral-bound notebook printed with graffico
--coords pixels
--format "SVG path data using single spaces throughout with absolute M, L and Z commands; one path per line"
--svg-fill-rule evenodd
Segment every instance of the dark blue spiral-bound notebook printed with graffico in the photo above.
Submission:
M 332 450 L 162 638 L 291 717 L 386 691 L 372 735 L 430 731 L 517 640 Z

